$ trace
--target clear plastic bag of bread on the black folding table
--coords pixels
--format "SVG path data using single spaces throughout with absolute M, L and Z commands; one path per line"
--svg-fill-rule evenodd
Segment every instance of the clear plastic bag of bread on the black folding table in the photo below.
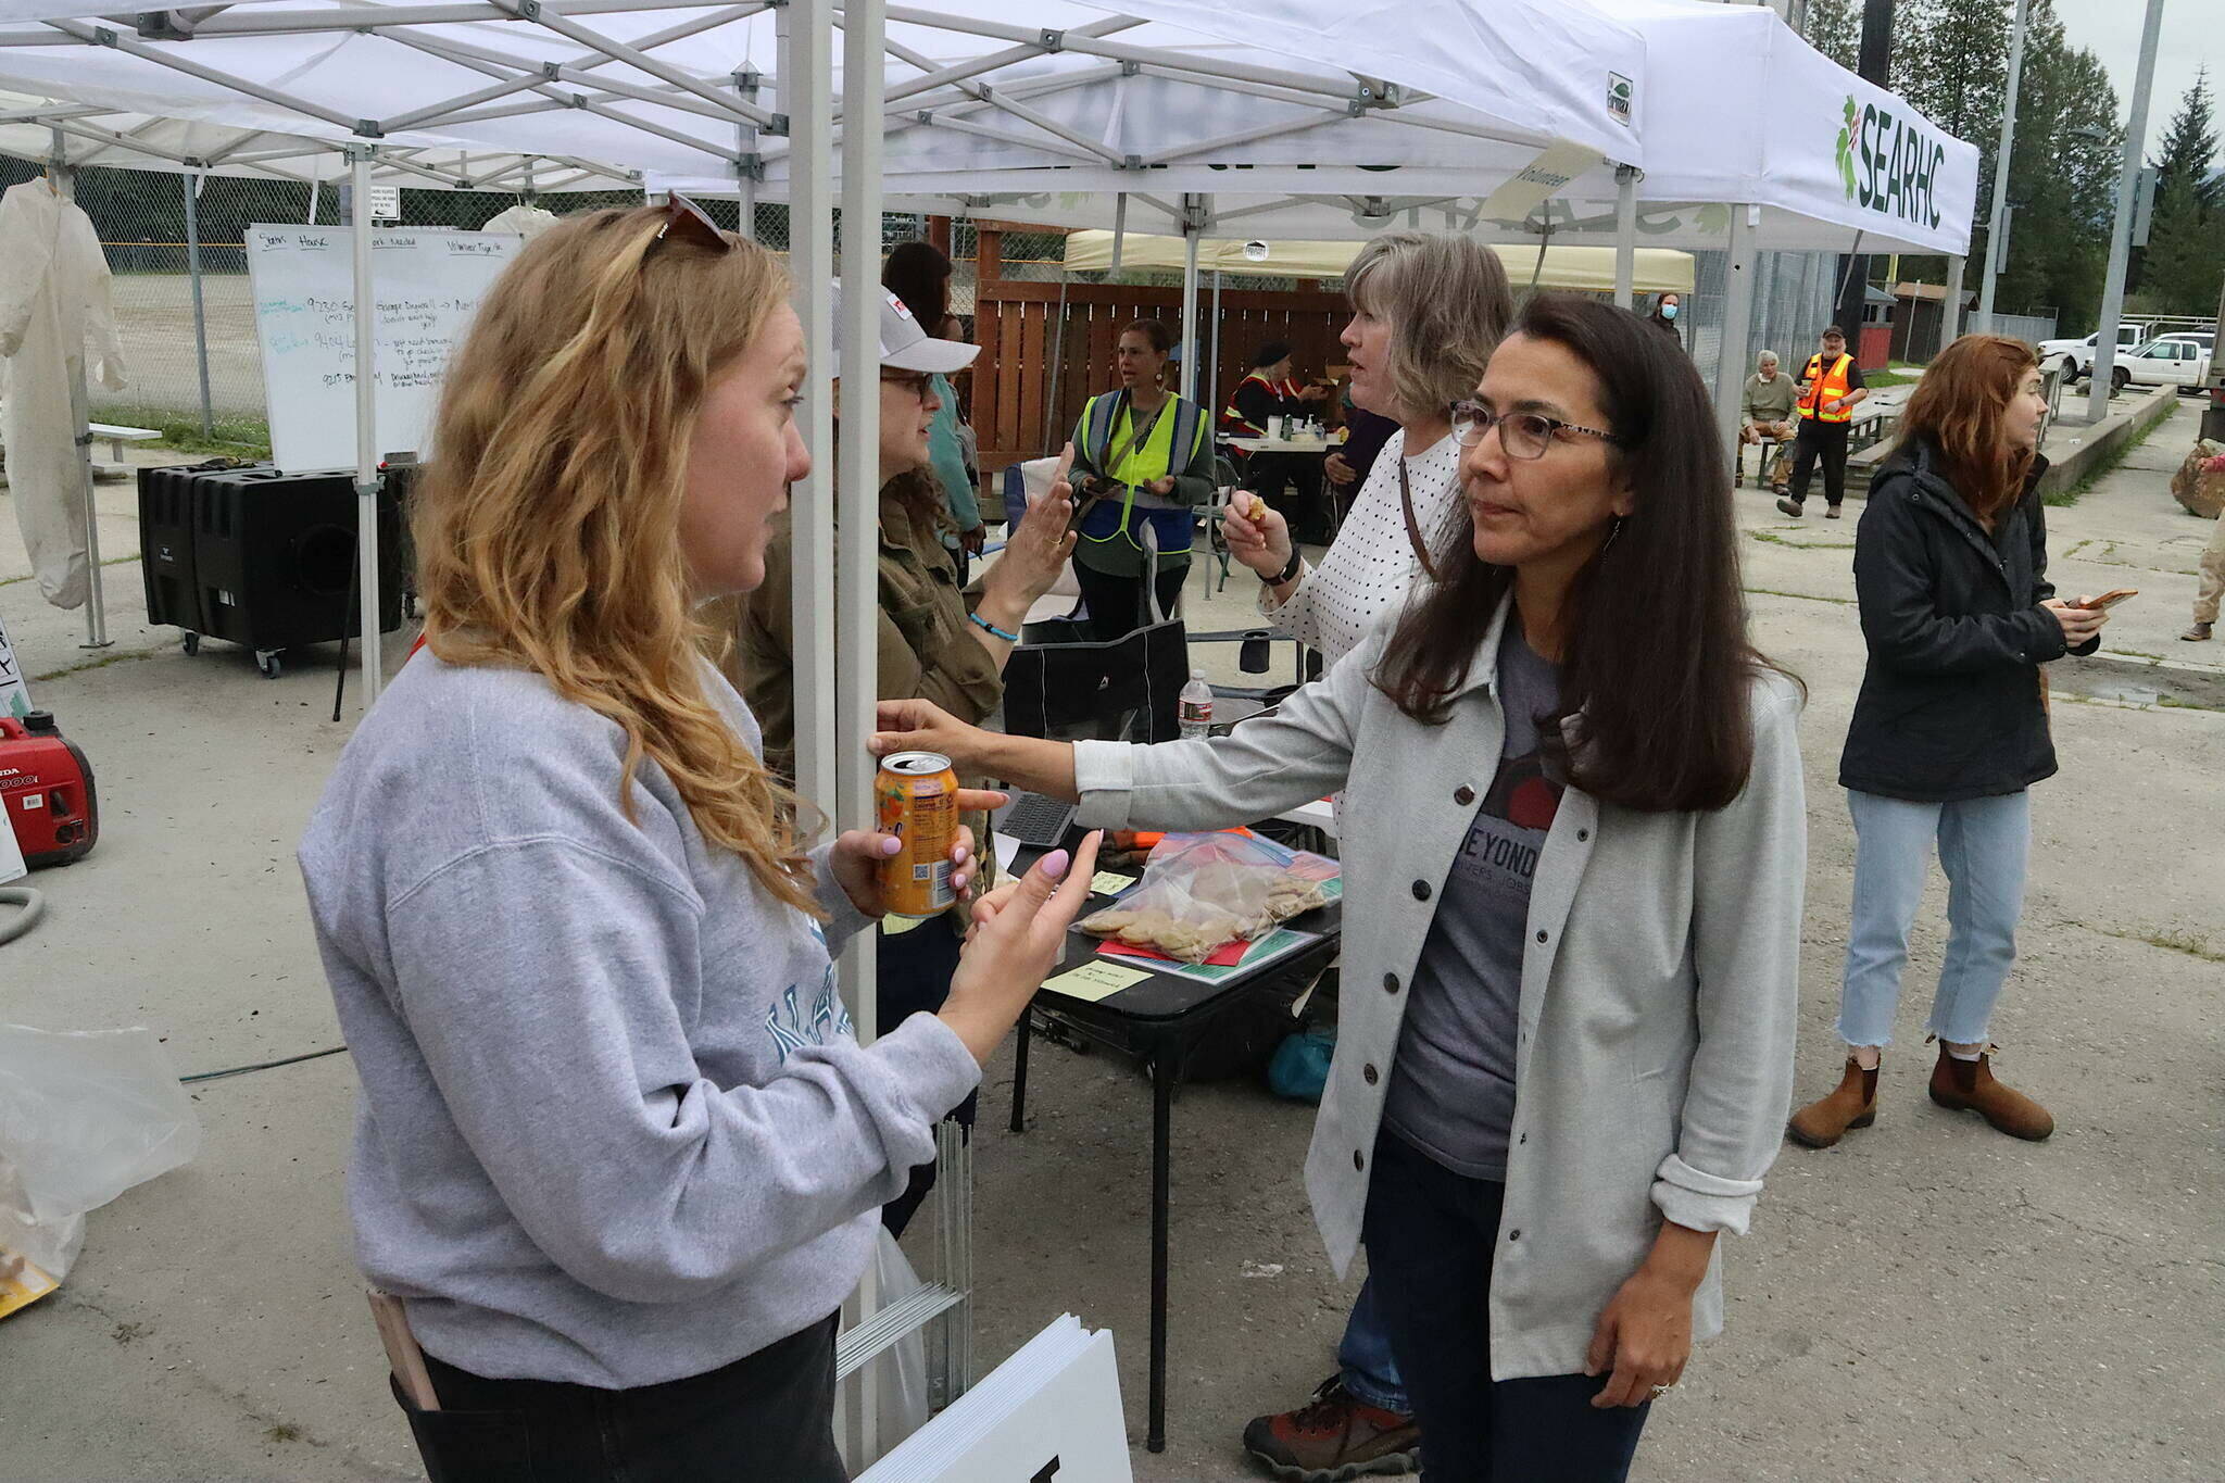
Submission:
M 1326 876 L 1324 869 L 1326 867 Z M 1335 865 L 1255 834 L 1168 834 L 1144 880 L 1081 920 L 1090 936 L 1204 963 L 1224 943 L 1255 938 L 1328 900 Z

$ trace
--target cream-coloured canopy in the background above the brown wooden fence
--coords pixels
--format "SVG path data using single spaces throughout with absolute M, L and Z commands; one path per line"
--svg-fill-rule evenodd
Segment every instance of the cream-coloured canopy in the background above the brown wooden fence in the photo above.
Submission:
M 1342 278 L 1366 242 L 1306 242 L 1288 238 L 1206 238 L 1197 245 L 1197 267 L 1230 278 Z M 1544 269 L 1526 242 L 1489 242 L 1506 265 L 1506 276 L 1537 287 L 1606 293 L 1615 287 L 1613 247 L 1546 247 Z M 1253 256 L 1257 251 L 1257 256 Z M 1110 231 L 1077 231 L 1066 238 L 1066 269 L 1104 273 L 1112 267 Z M 1181 238 L 1130 231 L 1121 242 L 1121 269 L 1181 269 Z M 1691 253 L 1646 247 L 1638 253 L 1640 293 L 1691 293 Z

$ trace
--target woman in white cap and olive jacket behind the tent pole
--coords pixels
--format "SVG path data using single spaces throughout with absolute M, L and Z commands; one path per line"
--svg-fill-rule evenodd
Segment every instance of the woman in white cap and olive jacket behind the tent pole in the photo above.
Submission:
M 921 329 L 901 298 L 872 287 L 881 298 L 881 623 L 879 698 L 934 700 L 952 716 L 986 720 L 1003 700 L 1003 663 L 1019 640 L 1019 625 L 1039 596 L 1050 591 L 1075 538 L 1066 531 L 1072 514 L 1064 482 L 1012 529 L 1003 554 L 970 585 L 959 585 L 957 558 L 943 545 L 948 518 L 934 482 L 928 449 L 941 400 L 937 376 L 972 365 L 981 351 L 959 340 L 937 340 Z M 841 285 L 834 287 L 837 302 Z M 834 316 L 837 336 L 843 318 Z M 839 347 L 837 347 L 837 354 Z M 841 385 L 837 382 L 837 416 Z M 788 522 L 774 527 L 765 551 L 765 580 L 741 609 L 736 669 L 750 711 L 765 727 L 765 763 L 794 778 L 794 565 Z M 979 787 L 977 778 L 961 778 Z M 975 836 L 988 838 L 988 818 L 970 816 Z M 879 1012 L 883 1025 L 914 1012 L 941 1007 L 950 974 L 959 965 L 966 934 L 963 903 L 948 914 L 897 925 L 879 954 Z M 957 1109 L 972 1125 L 975 1101 Z M 883 1221 L 903 1234 L 912 1212 L 934 1187 L 934 1165 L 919 1165 L 912 1183 L 888 1203 Z

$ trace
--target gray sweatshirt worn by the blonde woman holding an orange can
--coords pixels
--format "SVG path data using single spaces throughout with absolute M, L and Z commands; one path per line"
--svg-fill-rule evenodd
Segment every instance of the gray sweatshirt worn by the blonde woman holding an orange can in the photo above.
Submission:
M 363 1078 L 363 1272 L 485 1376 L 654 1385 L 825 1318 L 979 1083 L 930 1014 L 857 1045 L 828 934 L 866 920 L 823 849 L 828 927 L 708 845 L 654 763 L 627 820 L 623 758 L 541 676 L 425 651 L 300 845 Z

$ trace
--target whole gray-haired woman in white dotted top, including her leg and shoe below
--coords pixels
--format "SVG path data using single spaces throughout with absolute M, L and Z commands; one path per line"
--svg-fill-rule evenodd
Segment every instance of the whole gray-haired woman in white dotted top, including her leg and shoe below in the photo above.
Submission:
M 1435 580 L 1433 551 L 1466 518 L 1451 405 L 1475 391 L 1513 320 L 1506 269 L 1471 238 L 1384 233 L 1353 258 L 1344 282 L 1353 405 L 1400 429 L 1317 567 L 1264 505 L 1230 507 L 1222 525 L 1228 549 L 1259 576 L 1259 609 L 1328 665 L 1359 647 L 1377 614 Z M 1288 1479 L 1415 1467 L 1420 1439 L 1373 1287 L 1353 1305 L 1337 1374 L 1306 1405 L 1244 1430 L 1244 1447 Z

